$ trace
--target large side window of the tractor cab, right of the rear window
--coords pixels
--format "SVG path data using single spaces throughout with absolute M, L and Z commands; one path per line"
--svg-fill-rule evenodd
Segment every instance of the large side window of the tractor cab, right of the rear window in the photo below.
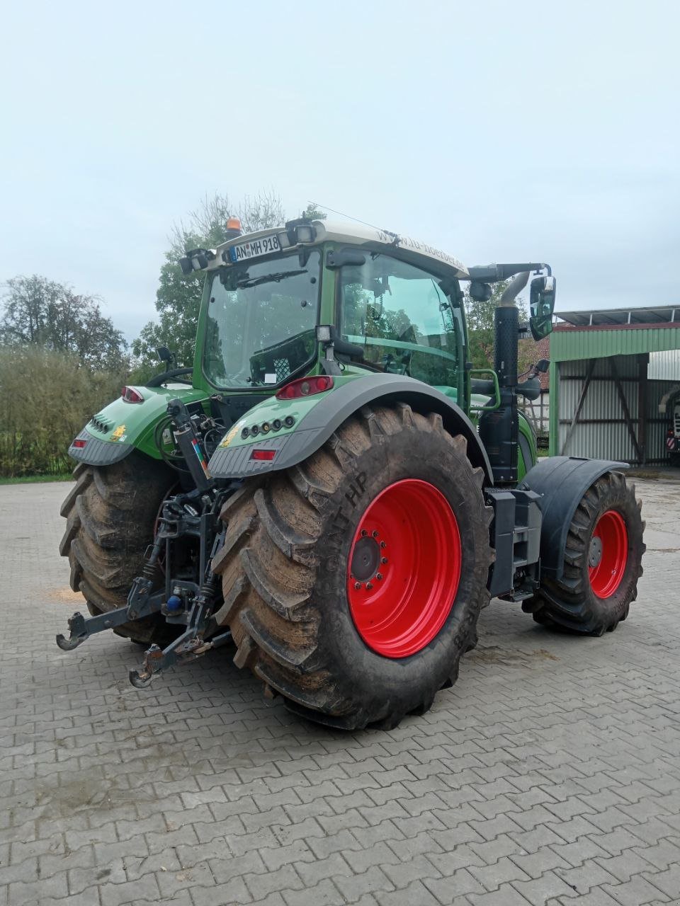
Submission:
M 457 388 L 461 315 L 440 277 L 389 255 L 340 271 L 341 333 L 364 359 L 395 374 Z

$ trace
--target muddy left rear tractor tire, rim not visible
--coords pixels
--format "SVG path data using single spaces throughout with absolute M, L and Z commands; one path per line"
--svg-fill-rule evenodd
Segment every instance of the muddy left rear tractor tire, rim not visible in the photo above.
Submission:
M 63 501 L 66 530 L 59 553 L 69 558 L 71 587 L 82 592 L 92 615 L 124 606 L 143 554 L 153 541 L 160 504 L 174 478 L 163 463 L 133 451 L 112 466 L 80 464 Z M 144 643 L 164 640 L 157 616 L 123 623 L 114 631 Z

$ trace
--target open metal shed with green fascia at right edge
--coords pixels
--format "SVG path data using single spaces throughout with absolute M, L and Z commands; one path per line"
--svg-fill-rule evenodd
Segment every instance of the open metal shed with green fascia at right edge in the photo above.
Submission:
M 562 312 L 550 341 L 550 455 L 663 464 L 680 394 L 680 305 Z

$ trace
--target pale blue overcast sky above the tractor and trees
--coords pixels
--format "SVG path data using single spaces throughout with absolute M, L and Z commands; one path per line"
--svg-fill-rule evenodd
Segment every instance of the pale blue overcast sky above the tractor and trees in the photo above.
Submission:
M 0 283 L 97 294 L 131 339 L 172 225 L 271 189 L 547 261 L 558 311 L 680 305 L 678 26 L 655 0 L 7 5 Z

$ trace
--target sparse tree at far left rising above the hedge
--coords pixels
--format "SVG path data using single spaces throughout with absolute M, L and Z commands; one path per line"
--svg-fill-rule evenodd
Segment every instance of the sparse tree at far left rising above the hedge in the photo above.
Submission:
M 112 371 L 126 362 L 121 331 L 102 314 L 100 300 L 46 277 L 17 276 L 5 284 L 0 342 L 74 355 L 92 370 Z

